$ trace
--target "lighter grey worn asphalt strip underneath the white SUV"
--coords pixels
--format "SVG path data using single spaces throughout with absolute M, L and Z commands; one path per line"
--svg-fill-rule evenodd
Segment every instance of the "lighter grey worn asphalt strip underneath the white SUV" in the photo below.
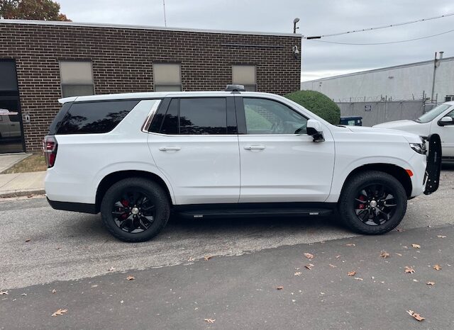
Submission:
M 0 202 L 0 290 L 115 271 L 192 263 L 204 256 L 240 256 L 279 246 L 354 237 L 330 219 L 172 219 L 153 241 L 127 244 L 99 215 L 52 210 L 44 198 Z M 454 223 L 454 164 L 444 166 L 433 195 L 409 201 L 399 228 Z M 30 239 L 30 241 L 27 241 Z

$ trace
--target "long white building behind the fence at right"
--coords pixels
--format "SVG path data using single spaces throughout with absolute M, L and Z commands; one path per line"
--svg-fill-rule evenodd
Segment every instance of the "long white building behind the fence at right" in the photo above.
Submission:
M 443 57 L 443 54 L 441 54 Z M 434 60 L 304 81 L 301 89 L 320 91 L 336 102 L 431 98 Z M 433 101 L 454 95 L 454 57 L 437 60 Z

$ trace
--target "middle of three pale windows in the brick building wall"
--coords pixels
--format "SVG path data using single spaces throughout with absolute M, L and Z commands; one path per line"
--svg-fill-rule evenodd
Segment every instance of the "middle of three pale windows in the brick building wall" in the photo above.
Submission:
M 182 91 L 181 67 L 176 63 L 153 64 L 155 91 Z

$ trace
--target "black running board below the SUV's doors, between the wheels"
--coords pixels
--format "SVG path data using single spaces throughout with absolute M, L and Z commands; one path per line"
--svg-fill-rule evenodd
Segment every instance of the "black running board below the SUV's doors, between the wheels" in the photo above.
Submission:
M 333 213 L 330 209 L 316 208 L 241 208 L 238 210 L 182 210 L 176 212 L 178 215 L 188 219 L 206 219 L 222 217 L 326 217 Z

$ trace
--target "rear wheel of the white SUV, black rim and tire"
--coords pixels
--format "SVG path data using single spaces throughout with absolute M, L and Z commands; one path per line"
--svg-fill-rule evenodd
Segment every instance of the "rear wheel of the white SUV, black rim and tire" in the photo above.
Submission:
M 144 178 L 126 178 L 114 183 L 101 202 L 104 225 L 121 241 L 152 239 L 165 227 L 169 215 L 170 201 L 165 190 Z

